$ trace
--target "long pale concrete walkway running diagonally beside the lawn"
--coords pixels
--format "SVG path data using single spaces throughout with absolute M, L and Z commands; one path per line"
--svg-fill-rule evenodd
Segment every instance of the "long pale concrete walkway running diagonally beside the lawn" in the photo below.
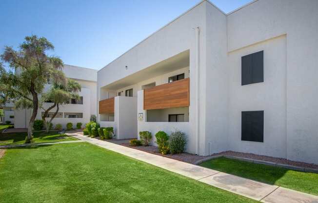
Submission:
M 109 149 L 128 157 L 156 165 L 160 168 L 210 184 L 215 187 L 248 197 L 263 203 L 318 203 L 318 196 L 309 195 L 295 190 L 286 189 L 226 174 L 186 162 L 150 154 L 137 149 L 125 147 L 111 142 L 104 142 L 77 133 L 70 134 L 77 139 L 86 141 L 105 149 Z

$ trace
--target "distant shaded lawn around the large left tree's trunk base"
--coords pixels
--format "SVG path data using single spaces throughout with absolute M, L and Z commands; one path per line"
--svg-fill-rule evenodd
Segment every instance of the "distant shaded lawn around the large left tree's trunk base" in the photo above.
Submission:
M 7 144 L 23 144 L 27 133 L 0 133 L 0 145 Z M 64 137 L 63 139 L 59 139 Z M 33 133 L 33 141 L 35 143 L 40 142 L 61 142 L 61 141 L 73 141 L 77 140 L 73 137 L 68 137 L 67 135 L 60 135 L 57 132 L 34 132 Z

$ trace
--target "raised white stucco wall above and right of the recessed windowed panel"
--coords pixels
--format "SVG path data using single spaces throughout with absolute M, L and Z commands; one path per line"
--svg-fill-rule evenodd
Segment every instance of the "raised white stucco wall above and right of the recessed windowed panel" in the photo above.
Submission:
M 286 97 L 286 158 L 314 163 L 318 163 L 317 10 L 317 0 L 258 0 L 227 18 L 228 51 L 286 34 L 286 95 L 278 95 Z

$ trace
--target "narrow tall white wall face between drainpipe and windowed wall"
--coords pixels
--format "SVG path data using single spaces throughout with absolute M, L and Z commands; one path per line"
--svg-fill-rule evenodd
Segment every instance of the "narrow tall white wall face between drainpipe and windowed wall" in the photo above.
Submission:
M 200 78 L 201 155 L 227 150 L 228 72 L 226 16 L 211 4 L 206 7 L 206 70 Z

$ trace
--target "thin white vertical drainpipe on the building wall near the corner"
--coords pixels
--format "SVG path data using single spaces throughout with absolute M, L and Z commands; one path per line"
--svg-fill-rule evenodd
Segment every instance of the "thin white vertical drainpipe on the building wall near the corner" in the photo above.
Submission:
M 195 28 L 196 30 L 196 154 L 199 155 L 199 134 L 200 134 L 200 29 L 199 27 Z

